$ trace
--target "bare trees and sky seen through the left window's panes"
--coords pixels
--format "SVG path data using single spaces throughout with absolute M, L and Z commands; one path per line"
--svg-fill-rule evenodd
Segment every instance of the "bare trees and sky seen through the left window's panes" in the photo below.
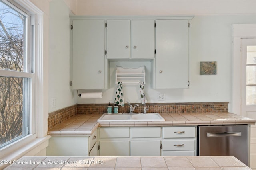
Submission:
M 0 69 L 23 72 L 24 16 L 0 2 Z M 0 146 L 22 135 L 23 78 L 0 76 Z

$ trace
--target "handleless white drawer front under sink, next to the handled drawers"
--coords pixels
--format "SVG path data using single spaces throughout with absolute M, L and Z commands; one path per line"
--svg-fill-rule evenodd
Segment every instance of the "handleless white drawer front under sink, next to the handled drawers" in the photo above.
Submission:
M 132 127 L 131 137 L 161 137 L 161 127 Z

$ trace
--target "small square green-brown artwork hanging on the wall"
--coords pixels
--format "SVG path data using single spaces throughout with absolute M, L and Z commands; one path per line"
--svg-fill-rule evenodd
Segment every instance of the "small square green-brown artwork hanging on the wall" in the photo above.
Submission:
M 216 75 L 216 74 L 217 74 L 216 61 L 200 62 L 200 75 Z

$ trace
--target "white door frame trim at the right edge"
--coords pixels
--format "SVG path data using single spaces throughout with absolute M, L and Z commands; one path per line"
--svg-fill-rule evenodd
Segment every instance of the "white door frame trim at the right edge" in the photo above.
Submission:
M 231 112 L 246 116 L 242 112 L 241 96 L 241 39 L 256 38 L 256 24 L 233 24 L 233 68 L 232 68 L 232 106 Z

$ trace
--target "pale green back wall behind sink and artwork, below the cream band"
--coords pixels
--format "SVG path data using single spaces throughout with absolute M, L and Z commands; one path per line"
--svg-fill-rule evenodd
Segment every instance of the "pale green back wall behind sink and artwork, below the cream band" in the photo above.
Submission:
M 145 93 L 148 102 L 230 102 L 232 78 L 232 28 L 234 23 L 256 23 L 256 15 L 195 16 L 190 22 L 189 89 L 154 90 L 150 87 L 150 64 L 146 63 Z M 200 61 L 217 61 L 217 75 L 199 75 Z M 103 98 L 80 99 L 78 103 L 107 103 L 114 100 L 116 85 L 112 71 L 118 65 L 110 63 L 110 89 Z M 119 64 L 120 65 L 120 64 Z M 127 65 L 127 64 L 126 64 Z M 130 63 L 131 67 L 144 63 Z M 127 66 L 129 66 L 127 65 Z M 140 102 L 138 90 L 124 86 L 124 100 Z M 156 100 L 157 93 L 166 93 L 165 101 Z

